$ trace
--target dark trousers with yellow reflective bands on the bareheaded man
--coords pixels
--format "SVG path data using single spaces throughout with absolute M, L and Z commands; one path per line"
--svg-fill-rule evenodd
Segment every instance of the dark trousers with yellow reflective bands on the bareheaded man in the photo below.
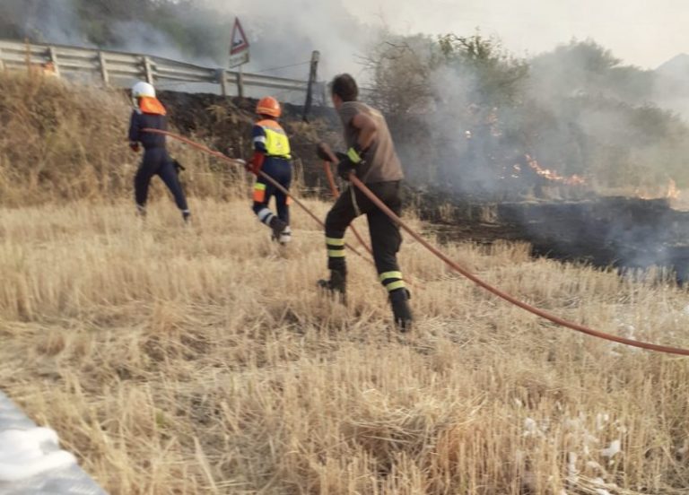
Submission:
M 399 181 L 379 182 L 367 184 L 367 186 L 390 210 L 397 215 L 401 213 L 402 200 L 399 196 Z M 355 202 L 352 198 L 352 191 L 354 191 Z M 346 274 L 345 230 L 360 214 L 365 214 L 369 221 L 373 260 L 378 270 L 379 281 L 388 292 L 404 288 L 405 282 L 399 271 L 399 265 L 397 265 L 397 252 L 402 244 L 399 226 L 352 185 L 347 187 L 337 198 L 336 203 L 327 213 L 327 267 L 330 270 Z

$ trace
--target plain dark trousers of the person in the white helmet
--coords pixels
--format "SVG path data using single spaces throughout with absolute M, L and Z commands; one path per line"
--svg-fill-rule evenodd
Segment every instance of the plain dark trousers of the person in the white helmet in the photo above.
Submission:
M 148 186 L 154 175 L 160 176 L 165 186 L 170 189 L 170 193 L 175 197 L 175 203 L 182 212 L 188 211 L 187 198 L 179 184 L 179 178 L 175 171 L 175 166 L 170 160 L 170 156 L 165 148 L 149 148 L 144 152 L 144 161 L 141 162 L 139 169 L 134 176 L 134 195 L 136 204 L 140 207 L 146 205 L 148 198 Z

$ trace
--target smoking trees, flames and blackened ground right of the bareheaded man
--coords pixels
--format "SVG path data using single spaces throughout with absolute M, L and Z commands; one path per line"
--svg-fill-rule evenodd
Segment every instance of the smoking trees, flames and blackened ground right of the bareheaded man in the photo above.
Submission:
M 685 281 L 689 219 L 671 206 L 689 186 L 689 127 L 654 100 L 661 74 L 591 40 L 522 59 L 480 32 L 388 33 L 365 63 L 364 97 L 387 113 L 427 211 L 444 204 L 476 238 L 487 223 L 537 255 Z

